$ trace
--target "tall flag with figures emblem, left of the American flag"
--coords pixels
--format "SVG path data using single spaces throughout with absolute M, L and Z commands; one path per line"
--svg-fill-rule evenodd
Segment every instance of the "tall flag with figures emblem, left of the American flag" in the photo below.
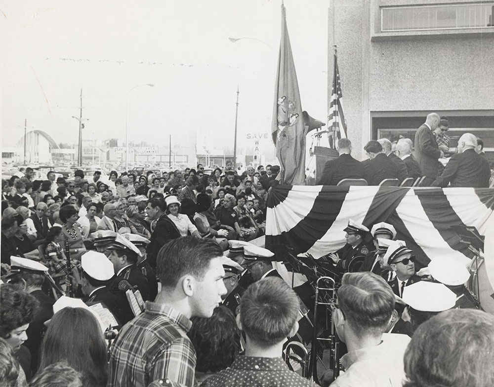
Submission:
M 281 184 L 305 184 L 306 126 L 302 116 L 295 64 L 291 53 L 285 6 L 282 4 L 281 42 L 275 84 L 271 134 L 280 161 Z

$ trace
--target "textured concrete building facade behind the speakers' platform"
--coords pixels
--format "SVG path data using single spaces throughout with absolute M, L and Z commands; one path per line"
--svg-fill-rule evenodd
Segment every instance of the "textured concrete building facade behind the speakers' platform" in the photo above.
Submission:
M 494 160 L 494 1 L 337 0 L 329 7 L 328 100 L 337 46 L 354 154 L 370 139 L 413 139 L 428 113 L 448 116 Z

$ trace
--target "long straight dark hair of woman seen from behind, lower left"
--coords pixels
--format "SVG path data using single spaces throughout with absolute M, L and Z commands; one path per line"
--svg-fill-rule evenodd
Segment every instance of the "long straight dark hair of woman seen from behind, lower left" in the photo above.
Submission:
M 96 317 L 82 308 L 64 308 L 50 320 L 41 344 L 40 369 L 65 361 L 82 373 L 83 386 L 106 386 L 107 349 Z

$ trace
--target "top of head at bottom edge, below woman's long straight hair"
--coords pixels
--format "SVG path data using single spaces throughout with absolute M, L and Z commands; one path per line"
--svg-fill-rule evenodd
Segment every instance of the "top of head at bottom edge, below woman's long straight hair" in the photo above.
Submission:
M 66 362 L 50 364 L 42 369 L 29 384 L 33 387 L 82 387 L 82 374 Z

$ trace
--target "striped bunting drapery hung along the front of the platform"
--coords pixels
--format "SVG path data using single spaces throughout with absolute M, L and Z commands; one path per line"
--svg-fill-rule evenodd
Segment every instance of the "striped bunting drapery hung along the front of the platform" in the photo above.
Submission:
M 266 247 L 288 244 L 296 254 L 319 258 L 345 244 L 343 229 L 352 218 L 369 229 L 392 224 L 420 267 L 440 256 L 466 263 L 473 255 L 450 226 L 474 226 L 486 235 L 493 209 L 488 188 L 278 186 L 267 201 Z

